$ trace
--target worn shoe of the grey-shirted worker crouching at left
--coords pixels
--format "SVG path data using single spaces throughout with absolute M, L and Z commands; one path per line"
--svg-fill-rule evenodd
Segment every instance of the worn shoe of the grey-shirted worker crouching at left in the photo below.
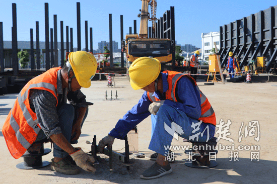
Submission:
M 73 175 L 80 173 L 80 169 L 77 168 L 77 166 L 70 164 L 64 159 L 60 160 L 59 162 L 54 162 L 52 159 L 50 168 L 51 170 L 57 171 L 62 174 Z

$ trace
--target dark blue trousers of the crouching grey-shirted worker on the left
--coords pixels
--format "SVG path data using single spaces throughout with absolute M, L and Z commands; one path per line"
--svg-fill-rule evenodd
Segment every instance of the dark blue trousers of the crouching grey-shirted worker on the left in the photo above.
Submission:
M 86 114 L 84 116 L 83 122 L 81 124 L 81 128 L 84 124 L 85 119 L 87 118 L 89 108 L 87 108 Z M 59 127 L 61 129 L 62 134 L 66 138 L 68 142 L 71 144 L 77 144 L 78 140 L 71 141 L 71 139 L 74 138 L 76 133 L 71 136 L 72 134 L 72 127 L 76 123 L 77 116 L 76 116 L 76 108 L 75 106 L 72 106 L 70 104 L 63 104 L 57 111 L 58 117 L 59 117 Z M 35 142 L 43 140 L 47 138 L 46 135 L 42 130 L 39 131 L 37 139 Z M 53 156 L 58 158 L 64 158 L 68 155 L 67 152 L 63 151 L 60 147 L 58 147 L 55 143 L 53 144 Z

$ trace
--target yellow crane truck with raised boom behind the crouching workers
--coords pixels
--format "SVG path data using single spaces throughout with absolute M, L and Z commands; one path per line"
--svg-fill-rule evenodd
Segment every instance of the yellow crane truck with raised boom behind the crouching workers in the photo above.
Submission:
M 152 20 L 152 31 L 155 31 L 156 27 L 156 7 L 157 0 L 141 0 L 142 9 L 140 24 L 140 34 L 128 34 L 126 35 L 125 43 L 122 42 L 124 50 L 126 50 L 126 58 L 128 65 L 139 57 L 154 57 L 161 63 L 167 63 L 172 61 L 173 43 L 170 39 L 160 38 L 148 38 L 148 20 Z M 151 6 L 150 18 L 148 13 L 148 7 Z M 123 45 L 124 44 L 124 45 Z

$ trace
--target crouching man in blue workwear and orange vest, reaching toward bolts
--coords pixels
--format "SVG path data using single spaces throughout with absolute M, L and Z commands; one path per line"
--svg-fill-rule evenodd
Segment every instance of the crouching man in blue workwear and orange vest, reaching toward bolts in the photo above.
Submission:
M 170 146 L 174 131 L 187 140 L 208 141 L 215 134 L 216 116 L 192 77 L 175 71 L 161 73 L 161 63 L 155 58 L 141 57 L 133 61 L 129 67 L 129 76 L 132 88 L 145 92 L 108 136 L 99 142 L 99 152 L 106 145 L 112 145 L 115 138 L 124 139 L 133 127 L 152 114 L 149 149 L 158 154 L 153 154 L 153 158 L 156 155 L 156 162 L 143 172 L 141 178 L 157 178 L 172 172 L 166 159 L 169 150 L 165 147 Z M 199 125 L 198 130 L 192 128 L 193 123 Z M 200 132 L 202 136 L 194 139 L 193 136 Z

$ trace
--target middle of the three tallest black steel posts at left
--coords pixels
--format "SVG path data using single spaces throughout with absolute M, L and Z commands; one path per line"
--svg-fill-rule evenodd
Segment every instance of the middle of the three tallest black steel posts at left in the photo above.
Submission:
M 44 3 L 45 12 L 45 69 L 50 69 L 50 52 L 49 52 L 49 10 L 48 3 Z

